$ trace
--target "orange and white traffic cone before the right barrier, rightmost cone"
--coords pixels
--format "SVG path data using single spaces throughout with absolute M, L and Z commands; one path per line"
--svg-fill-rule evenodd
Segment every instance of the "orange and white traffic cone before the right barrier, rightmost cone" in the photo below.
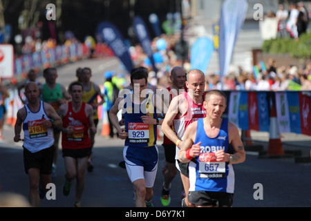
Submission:
M 281 143 L 281 135 L 279 132 L 278 122 L 276 121 L 276 108 L 272 104 L 270 116 L 270 138 L 267 149 L 267 155 L 284 155 L 283 146 Z

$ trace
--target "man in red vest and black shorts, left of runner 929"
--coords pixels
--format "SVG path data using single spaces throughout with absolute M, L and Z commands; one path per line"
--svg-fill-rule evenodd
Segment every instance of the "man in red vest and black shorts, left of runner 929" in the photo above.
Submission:
M 71 102 L 59 108 L 59 116 L 63 119 L 62 151 L 65 160 L 66 181 L 64 195 L 68 195 L 73 179 L 77 179 L 75 206 L 80 207 L 84 190 L 84 172 L 91 155 L 91 139 L 88 132 L 96 133 L 93 121 L 93 108 L 82 102 L 82 84 L 75 81 L 70 84 Z

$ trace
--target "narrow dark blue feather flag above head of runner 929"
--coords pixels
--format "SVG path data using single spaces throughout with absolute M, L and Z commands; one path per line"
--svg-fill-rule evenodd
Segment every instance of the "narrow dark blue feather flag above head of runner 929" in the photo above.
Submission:
M 135 16 L 133 20 L 133 28 L 135 30 L 136 36 L 138 37 L 138 40 L 140 41 L 142 49 L 144 49 L 144 52 L 147 54 L 149 60 L 151 61 L 153 70 L 157 73 L 158 68 L 156 68 L 156 64 L 153 59 L 153 51 L 151 48 L 151 40 L 149 32 L 147 30 L 146 24 L 144 23 L 141 17 Z

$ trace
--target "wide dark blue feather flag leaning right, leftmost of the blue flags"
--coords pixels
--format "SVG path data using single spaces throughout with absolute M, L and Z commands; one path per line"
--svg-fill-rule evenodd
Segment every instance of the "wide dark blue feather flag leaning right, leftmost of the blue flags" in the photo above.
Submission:
M 115 56 L 124 64 L 129 73 L 133 69 L 132 59 L 129 50 L 124 44 L 124 39 L 120 31 L 109 21 L 103 21 L 97 26 L 97 34 L 100 35 L 103 41 L 113 50 Z

